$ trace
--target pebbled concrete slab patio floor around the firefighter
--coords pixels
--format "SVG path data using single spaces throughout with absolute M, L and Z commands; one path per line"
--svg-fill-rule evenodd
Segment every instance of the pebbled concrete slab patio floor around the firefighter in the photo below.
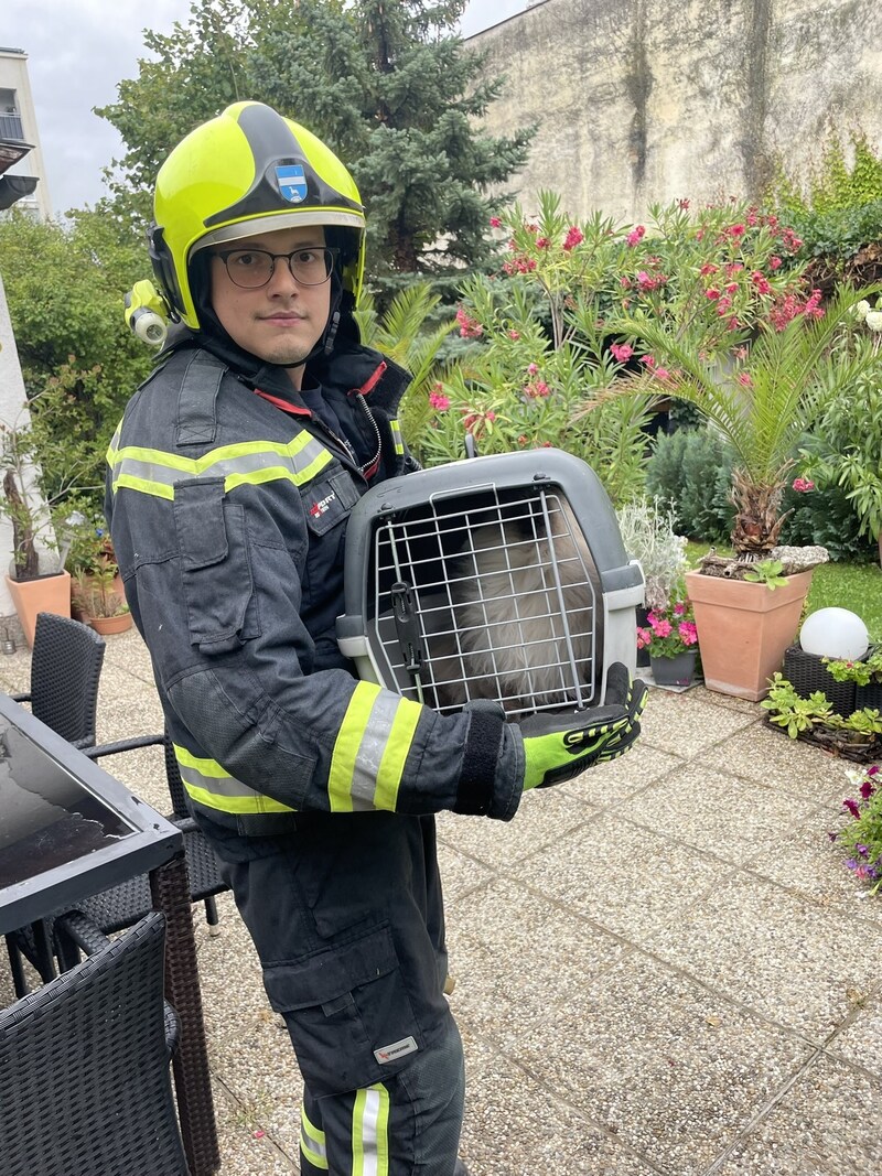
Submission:
M 1 688 L 27 676 L 0 659 Z M 510 824 L 440 818 L 473 1176 L 882 1168 L 882 898 L 827 837 L 842 762 L 763 714 L 654 689 L 623 760 Z M 140 637 L 108 637 L 99 740 L 160 723 Z M 167 808 L 156 749 L 102 766 Z M 294 1172 L 296 1067 L 220 906 L 198 931 L 221 1174 Z

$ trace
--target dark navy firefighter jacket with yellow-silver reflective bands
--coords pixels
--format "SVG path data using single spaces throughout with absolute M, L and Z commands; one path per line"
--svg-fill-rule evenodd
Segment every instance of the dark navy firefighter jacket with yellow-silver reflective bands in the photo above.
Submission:
M 106 499 L 196 816 L 236 837 L 285 833 L 305 811 L 510 818 L 514 729 L 359 682 L 334 641 L 349 512 L 407 468 L 406 374 L 338 343 L 321 387 L 353 446 L 283 370 L 207 346 L 175 346 L 131 400 Z

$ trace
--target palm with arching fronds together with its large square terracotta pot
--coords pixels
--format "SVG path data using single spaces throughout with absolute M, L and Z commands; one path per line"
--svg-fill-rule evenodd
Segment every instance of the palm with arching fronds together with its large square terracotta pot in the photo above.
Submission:
M 756 279 L 759 286 L 762 274 Z M 711 555 L 686 576 L 710 689 L 753 701 L 766 695 L 796 634 L 811 568 L 827 557 L 822 548 L 777 548 L 781 501 L 800 439 L 843 389 L 878 365 L 870 350 L 847 345 L 860 300 L 860 293 L 840 290 L 824 310 L 820 293 L 791 294 L 770 305 L 750 334 L 731 318 L 714 334 L 697 312 L 674 326 L 647 314 L 621 323 L 653 361 L 653 374 L 637 383 L 657 383 L 663 369 L 668 393 L 695 405 L 736 454 L 734 556 Z M 777 573 L 761 570 L 750 582 L 751 564 L 770 556 L 781 557 Z

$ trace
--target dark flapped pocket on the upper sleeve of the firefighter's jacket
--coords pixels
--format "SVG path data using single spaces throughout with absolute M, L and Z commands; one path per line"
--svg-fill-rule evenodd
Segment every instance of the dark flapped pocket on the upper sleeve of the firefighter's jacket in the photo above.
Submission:
M 223 479 L 178 482 L 174 523 L 191 643 L 220 654 L 256 637 L 245 510 L 226 500 Z

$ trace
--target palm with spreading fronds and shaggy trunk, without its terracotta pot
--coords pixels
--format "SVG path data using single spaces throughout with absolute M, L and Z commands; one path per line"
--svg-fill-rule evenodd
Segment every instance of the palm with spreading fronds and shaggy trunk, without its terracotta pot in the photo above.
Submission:
M 731 544 L 736 559 L 764 559 L 784 521 L 781 500 L 800 441 L 826 408 L 880 358 L 836 346 L 854 307 L 867 296 L 840 289 L 823 316 L 796 314 L 782 329 L 760 322 L 753 340 L 726 361 L 703 349 L 700 322 L 670 326 L 628 318 L 616 329 L 637 338 L 654 365 L 635 377 L 686 400 L 707 417 L 736 454 Z M 663 375 L 659 368 L 663 365 Z

